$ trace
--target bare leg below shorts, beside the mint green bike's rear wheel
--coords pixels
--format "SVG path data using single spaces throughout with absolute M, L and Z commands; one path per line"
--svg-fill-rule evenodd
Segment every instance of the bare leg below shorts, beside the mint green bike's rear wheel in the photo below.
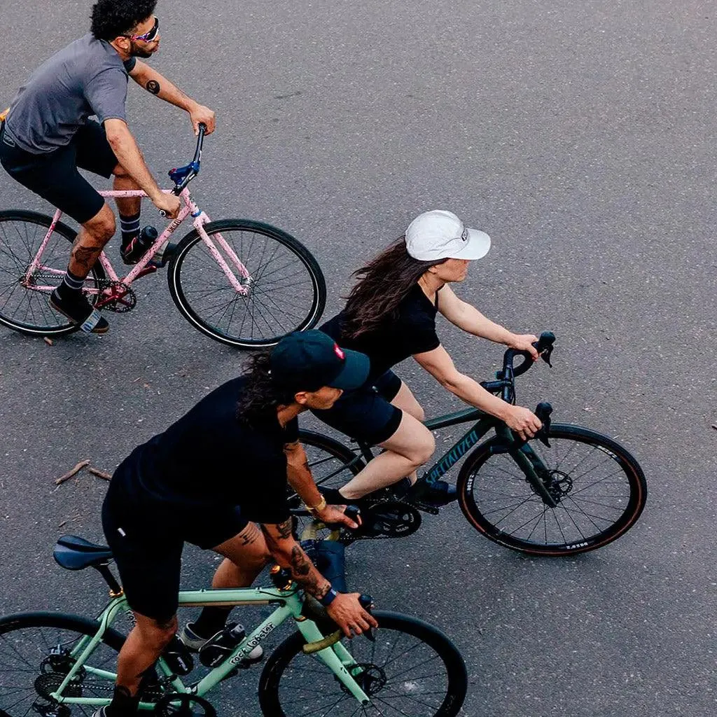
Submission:
M 142 675 L 156 662 L 177 629 L 176 615 L 165 622 L 138 612 L 134 615 L 137 624 L 127 636 L 117 659 L 117 685 L 128 690 L 130 695 L 137 694 Z

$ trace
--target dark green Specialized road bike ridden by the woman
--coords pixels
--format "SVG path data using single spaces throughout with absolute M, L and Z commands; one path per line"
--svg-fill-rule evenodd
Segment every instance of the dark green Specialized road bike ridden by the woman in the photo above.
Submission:
M 550 365 L 555 341 L 541 334 L 536 348 Z M 518 356 L 523 363 L 513 366 Z M 516 402 L 516 376 L 533 361 L 527 352 L 508 349 L 495 381 L 481 384 L 505 402 Z M 458 503 L 470 524 L 486 538 L 507 548 L 533 555 L 565 556 L 601 548 L 624 535 L 647 500 L 647 485 L 635 458 L 615 440 L 590 429 L 552 423 L 549 403 L 538 404 L 543 422 L 538 435 L 520 440 L 499 419 L 468 408 L 425 422 L 432 431 L 470 424 L 450 450 L 419 478 L 429 486 L 465 457 L 457 479 Z M 493 431 L 488 440 L 480 440 Z M 314 479 L 318 485 L 341 488 L 374 457 L 365 442 L 344 445 L 326 435 L 300 431 Z M 327 533 L 311 520 L 293 498 L 298 536 Z M 421 525 L 421 513 L 438 508 L 408 498 L 389 487 L 362 501 L 364 524 L 359 531 L 334 532 L 344 543 L 359 538 L 399 538 Z

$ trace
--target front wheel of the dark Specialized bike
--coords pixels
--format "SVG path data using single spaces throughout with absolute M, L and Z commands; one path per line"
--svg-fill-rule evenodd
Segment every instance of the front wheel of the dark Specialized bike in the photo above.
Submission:
M 508 453 L 491 454 L 490 441 L 471 453 L 458 476 L 465 517 L 486 538 L 533 555 L 562 556 L 601 548 L 635 525 L 647 485 L 630 453 L 587 428 L 553 424 L 551 447 L 531 440 L 546 471 L 551 508 Z

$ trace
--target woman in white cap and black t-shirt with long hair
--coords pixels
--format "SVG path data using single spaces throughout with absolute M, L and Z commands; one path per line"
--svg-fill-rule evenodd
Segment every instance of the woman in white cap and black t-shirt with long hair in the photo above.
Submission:
M 341 346 L 366 353 L 371 371 L 361 389 L 344 394 L 331 409 L 313 413 L 352 438 L 384 448 L 339 493 L 328 491 L 330 502 L 362 498 L 404 476 L 415 483 L 417 468 L 433 454 L 435 441 L 421 423 L 422 407 L 391 371 L 409 356 L 451 393 L 499 417 L 521 437 L 532 437 L 540 429 L 541 422 L 531 411 L 505 403 L 461 374 L 436 335 L 435 317 L 440 312 L 467 333 L 538 358 L 532 346 L 536 336 L 511 333 L 493 323 L 450 288 L 465 279 L 469 262 L 489 249 L 488 234 L 467 229 L 455 214 L 424 212 L 396 244 L 355 272 L 359 282 L 346 308 L 320 327 Z M 455 498 L 455 488 L 437 481 L 420 498 L 447 503 Z

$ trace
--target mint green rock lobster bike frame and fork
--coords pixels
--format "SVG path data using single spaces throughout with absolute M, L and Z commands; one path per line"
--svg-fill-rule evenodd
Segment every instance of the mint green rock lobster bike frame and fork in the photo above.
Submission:
M 301 614 L 303 607 L 303 601 L 298 595 L 298 587 L 290 587 L 287 590 L 280 590 L 277 588 L 240 588 L 240 589 L 205 589 L 205 590 L 183 590 L 179 593 L 179 607 L 204 607 L 206 605 L 222 605 L 222 606 L 237 606 L 237 605 L 273 605 L 277 608 L 267 619 L 265 619 L 260 625 L 258 625 L 252 632 L 249 632 L 242 642 L 239 642 L 234 652 L 227 660 L 214 668 L 209 674 L 205 675 L 204 678 L 199 680 L 194 685 L 185 685 L 179 677 L 175 677 L 171 680 L 171 685 L 177 693 L 196 695 L 203 697 L 209 690 L 214 688 L 214 685 L 221 682 L 229 672 L 234 669 L 234 666 L 242 660 L 243 657 L 249 655 L 249 653 L 262 642 L 266 637 L 271 635 L 277 627 L 282 625 L 286 620 L 293 617 L 295 625 L 298 631 L 303 635 L 306 642 L 315 642 L 317 640 L 323 640 L 324 635 L 320 632 L 316 623 L 313 620 L 304 617 Z M 108 705 L 111 701 L 110 698 L 101 697 L 64 697 L 62 690 L 65 690 L 67 685 L 70 683 L 72 678 L 77 674 L 80 668 L 84 668 L 87 673 L 91 673 L 100 678 L 105 678 L 108 681 L 114 682 L 117 678 L 116 673 L 109 672 L 108 670 L 100 670 L 93 668 L 91 665 L 86 665 L 87 660 L 92 652 L 95 650 L 105 632 L 112 625 L 115 617 L 122 612 L 126 612 L 129 609 L 127 599 L 124 595 L 115 597 L 107 604 L 103 612 L 98 617 L 100 622 L 100 629 L 95 635 L 87 635 L 83 637 L 77 645 L 72 649 L 70 653 L 72 657 L 76 657 L 75 665 L 72 667 L 62 684 L 52 693 L 52 698 L 57 700 L 59 703 L 66 705 L 88 705 L 93 707 L 101 707 Z M 336 675 L 336 678 L 346 687 L 346 689 L 358 700 L 361 704 L 369 704 L 369 697 L 361 690 L 353 675 L 356 675 L 356 660 L 351 657 L 351 652 L 348 652 L 346 647 L 341 641 L 331 645 L 331 647 L 325 647 L 323 650 L 316 652 L 315 655 L 326 665 L 328 670 Z M 157 661 L 158 670 L 165 676 L 168 677 L 172 674 L 171 670 L 167 667 L 164 660 L 160 657 Z M 141 710 L 154 709 L 155 703 L 153 702 L 141 702 L 139 708 Z

